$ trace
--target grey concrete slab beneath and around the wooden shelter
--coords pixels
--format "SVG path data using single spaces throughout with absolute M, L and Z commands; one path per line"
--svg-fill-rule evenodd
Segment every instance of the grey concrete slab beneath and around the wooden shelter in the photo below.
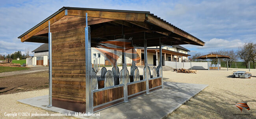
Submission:
M 28 104 L 31 106 L 39 107 L 44 110 L 50 110 L 53 112 L 70 113 L 77 118 L 85 119 L 161 119 L 165 118 L 169 113 L 176 110 L 183 103 L 188 101 L 191 97 L 198 94 L 208 85 L 202 84 L 189 84 L 189 83 L 176 83 L 176 82 L 164 82 L 164 88 L 151 92 L 135 99 L 128 101 L 127 103 L 121 103 L 119 105 L 106 108 L 96 114 L 100 116 L 81 117 L 75 116 L 75 112 L 51 107 L 47 108 L 48 96 L 33 97 L 28 99 L 18 100 L 20 103 Z M 26 110 L 24 110 L 26 111 Z

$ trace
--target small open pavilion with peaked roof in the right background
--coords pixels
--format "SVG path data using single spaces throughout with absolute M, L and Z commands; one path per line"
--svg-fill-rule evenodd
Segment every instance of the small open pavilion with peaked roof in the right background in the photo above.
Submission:
M 214 64 L 210 65 L 210 64 L 209 64 L 209 61 L 207 61 L 207 63 L 208 63 L 208 70 L 210 70 L 210 69 L 218 69 L 218 70 L 220 70 L 220 69 L 221 69 L 221 66 L 220 66 L 220 64 L 219 64 L 219 59 L 223 59 L 223 58 L 230 59 L 229 56 L 220 55 L 220 54 L 213 54 L 213 53 L 211 53 L 211 54 L 206 54 L 206 55 L 204 55 L 204 56 L 197 57 L 197 59 L 217 59 L 217 61 L 218 61 L 218 62 L 217 62 L 217 65 L 214 65 Z M 228 61 L 227 61 L 227 62 L 228 62 Z

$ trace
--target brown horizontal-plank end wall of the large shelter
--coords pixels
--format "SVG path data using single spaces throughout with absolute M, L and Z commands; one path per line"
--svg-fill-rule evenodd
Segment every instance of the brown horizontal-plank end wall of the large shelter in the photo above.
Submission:
M 70 110 L 78 108 L 82 112 L 85 108 L 76 107 L 76 103 L 85 107 L 85 30 L 62 29 L 66 30 L 52 33 L 53 105 Z

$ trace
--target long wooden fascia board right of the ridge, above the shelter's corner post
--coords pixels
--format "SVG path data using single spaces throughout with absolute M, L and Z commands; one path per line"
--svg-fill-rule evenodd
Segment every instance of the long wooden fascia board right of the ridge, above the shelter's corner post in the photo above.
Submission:
M 138 22 L 144 22 L 145 17 L 146 17 L 144 13 L 123 13 L 123 12 L 68 9 L 69 15 L 85 16 L 86 13 L 87 13 L 88 17 L 106 18 L 106 19 L 115 19 L 115 20 L 127 20 L 127 21 L 138 21 Z

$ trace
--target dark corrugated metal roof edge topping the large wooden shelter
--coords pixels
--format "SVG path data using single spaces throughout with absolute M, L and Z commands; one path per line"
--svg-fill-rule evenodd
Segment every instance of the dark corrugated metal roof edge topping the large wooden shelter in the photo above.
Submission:
M 150 14 L 150 15 L 154 16 L 155 18 L 157 18 L 157 19 L 159 19 L 159 20 L 161 20 L 161 21 L 163 21 L 163 22 L 165 22 L 165 23 L 167 23 L 167 24 L 169 24 L 169 25 L 171 25 L 171 26 L 173 26 L 173 27 L 175 27 L 175 28 L 177 28 L 177 29 L 183 31 L 182 29 L 180 29 L 180 28 L 178 28 L 178 27 L 172 25 L 172 24 L 169 23 L 169 22 L 166 22 L 165 20 L 161 19 L 160 17 L 158 17 L 158 16 L 156 16 L 156 15 L 154 15 L 154 14 L 151 14 L 149 11 L 130 11 L 130 10 L 115 10 L 115 9 L 95 9 L 95 8 L 81 8 L 81 7 L 62 7 L 61 9 L 59 9 L 59 11 L 57 11 L 57 12 L 54 13 L 54 14 L 52 14 L 51 16 L 49 16 L 48 18 L 46 18 L 46 19 L 43 20 L 42 22 L 38 23 L 37 25 L 35 25 L 34 27 L 32 27 L 30 30 L 28 30 L 27 32 L 25 32 L 24 34 L 22 34 L 21 36 L 19 36 L 18 38 L 21 38 L 21 37 L 25 36 L 26 34 L 28 34 L 28 32 L 32 31 L 33 29 L 35 29 L 35 28 L 38 27 L 39 25 L 41 25 L 41 24 L 45 23 L 46 21 L 50 20 L 50 18 L 52 18 L 53 16 L 55 16 L 56 14 L 60 13 L 61 11 L 65 10 L 65 9 L 82 9 L 82 10 L 92 10 L 92 11 L 109 11 L 109 12 L 125 12 L 125 13 L 143 13 L 143 14 Z M 189 33 L 186 32 L 186 31 L 183 31 L 183 32 L 189 34 Z M 191 34 L 189 34 L 189 35 L 191 35 Z M 196 37 L 193 36 L 193 35 L 191 35 L 191 36 L 194 37 L 194 38 L 196 38 Z M 200 39 L 198 39 L 198 38 L 196 38 L 196 39 L 199 40 L 199 41 L 202 41 L 202 40 L 200 40 Z M 204 41 L 202 41 L 202 42 L 204 42 Z M 204 43 L 205 43 L 205 42 L 204 42 Z

